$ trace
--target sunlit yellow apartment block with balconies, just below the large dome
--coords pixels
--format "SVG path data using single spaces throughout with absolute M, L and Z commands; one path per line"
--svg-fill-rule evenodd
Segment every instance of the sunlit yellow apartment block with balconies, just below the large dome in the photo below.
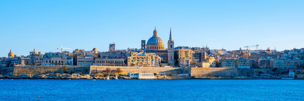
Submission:
M 159 66 L 161 57 L 155 53 L 131 52 L 131 56 L 128 56 L 127 61 L 128 66 Z

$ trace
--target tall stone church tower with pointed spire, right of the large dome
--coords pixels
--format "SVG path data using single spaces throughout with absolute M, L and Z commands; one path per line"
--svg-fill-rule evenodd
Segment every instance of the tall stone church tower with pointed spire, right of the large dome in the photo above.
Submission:
M 170 36 L 168 40 L 168 66 L 174 66 L 174 41 L 172 39 L 172 30 L 170 28 Z

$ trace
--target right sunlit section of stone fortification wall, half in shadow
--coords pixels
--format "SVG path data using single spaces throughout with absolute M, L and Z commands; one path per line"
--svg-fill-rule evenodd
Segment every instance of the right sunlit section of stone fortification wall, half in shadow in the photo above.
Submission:
M 233 68 L 191 68 L 191 76 L 238 76 Z

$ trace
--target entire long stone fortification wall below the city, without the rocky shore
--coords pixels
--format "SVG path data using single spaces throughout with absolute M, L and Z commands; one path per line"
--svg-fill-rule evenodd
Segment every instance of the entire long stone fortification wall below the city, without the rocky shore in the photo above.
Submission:
M 66 67 L 66 69 L 64 69 Z M 0 74 L 21 75 L 21 74 L 45 74 L 54 73 L 83 73 L 96 74 L 105 73 L 105 69 L 111 69 L 110 74 L 114 74 L 117 68 L 126 75 L 128 72 L 159 73 L 166 75 L 189 74 L 189 76 L 260 76 L 260 73 L 281 74 L 292 72 L 304 72 L 303 69 L 233 69 L 233 68 L 171 68 L 171 67 L 131 67 L 131 66 L 14 66 L 0 68 Z M 117 73 L 116 73 L 117 74 Z

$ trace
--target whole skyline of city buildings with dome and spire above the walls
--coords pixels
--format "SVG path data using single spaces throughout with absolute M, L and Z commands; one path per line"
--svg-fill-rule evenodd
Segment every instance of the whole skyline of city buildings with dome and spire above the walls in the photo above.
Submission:
M 145 66 L 145 67 L 224 67 L 224 68 L 279 68 L 303 69 L 304 48 L 276 51 L 239 49 L 209 49 L 201 47 L 174 47 L 170 29 L 167 47 L 158 37 L 156 27 L 153 36 L 141 40 L 141 48 L 116 49 L 109 44 L 109 51 L 99 52 L 75 49 L 73 52 L 47 52 L 41 54 L 34 49 L 28 56 L 17 56 L 12 50 L 8 57 L 0 58 L 0 67 L 26 65 L 74 65 L 74 66 Z M 254 45 L 258 46 L 258 45 Z

